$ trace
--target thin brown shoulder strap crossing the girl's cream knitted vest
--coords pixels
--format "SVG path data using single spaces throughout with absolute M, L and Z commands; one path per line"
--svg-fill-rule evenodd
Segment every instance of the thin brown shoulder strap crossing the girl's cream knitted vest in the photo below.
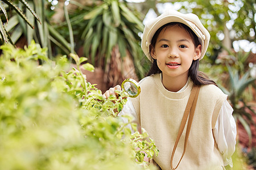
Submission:
M 200 90 L 200 86 L 193 86 L 192 91 L 191 91 L 191 95 L 189 96 L 188 104 L 187 104 L 187 107 L 185 108 L 185 112 L 184 112 L 184 115 L 183 115 L 183 118 L 182 118 L 181 124 L 180 124 L 180 129 L 179 129 L 179 132 L 177 134 L 177 138 L 176 138 L 176 141 L 175 141 L 175 144 L 174 144 L 174 149 L 172 150 L 172 156 L 171 156 L 171 168 L 172 168 L 172 170 L 176 169 L 179 166 L 179 164 L 181 162 L 181 159 L 183 158 L 183 156 L 185 154 L 186 147 L 187 147 L 187 142 L 188 142 L 188 136 L 189 136 L 189 132 L 190 132 L 191 125 L 192 125 L 194 112 L 195 112 L 195 109 L 196 109 L 196 102 L 197 102 L 197 98 L 198 98 L 198 95 L 199 95 L 199 90 Z M 189 115 L 189 118 L 188 118 L 188 115 Z M 188 125 L 187 125 L 187 131 L 186 131 L 186 134 L 185 134 L 183 154 L 181 155 L 180 161 L 177 164 L 176 168 L 174 168 L 173 165 L 172 165 L 172 161 L 174 159 L 174 154 L 175 154 L 175 151 L 176 151 L 176 148 L 177 148 L 177 144 L 179 143 L 179 140 L 180 140 L 181 134 L 182 134 L 182 132 L 185 128 L 185 124 L 187 122 L 187 119 L 188 119 Z

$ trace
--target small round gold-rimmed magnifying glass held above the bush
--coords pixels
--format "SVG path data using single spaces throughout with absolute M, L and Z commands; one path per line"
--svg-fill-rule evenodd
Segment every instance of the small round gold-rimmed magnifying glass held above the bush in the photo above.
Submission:
M 129 97 L 137 97 L 141 93 L 141 87 L 134 79 L 125 79 L 122 82 L 122 90 L 125 91 Z

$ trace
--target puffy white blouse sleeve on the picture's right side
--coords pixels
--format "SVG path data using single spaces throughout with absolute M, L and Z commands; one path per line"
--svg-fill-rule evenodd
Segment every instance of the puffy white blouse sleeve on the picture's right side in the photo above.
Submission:
M 233 167 L 231 156 L 236 150 L 236 135 L 237 128 L 234 117 L 232 116 L 233 108 L 230 106 L 227 100 L 224 101 L 215 128 L 213 129 L 213 135 L 216 140 L 218 150 L 222 154 L 224 165 L 230 165 Z

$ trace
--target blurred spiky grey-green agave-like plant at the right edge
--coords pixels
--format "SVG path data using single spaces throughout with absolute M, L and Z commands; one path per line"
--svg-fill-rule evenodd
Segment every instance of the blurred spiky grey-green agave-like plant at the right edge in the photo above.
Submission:
M 256 80 L 256 78 L 250 76 L 248 61 L 251 52 L 230 52 L 227 49 L 226 52 L 226 55 L 216 60 L 216 63 L 221 66 L 222 75 L 228 74 L 225 79 L 222 79 L 220 87 L 225 94 L 229 95 L 230 104 L 234 109 L 233 116 L 236 121 L 239 120 L 241 122 L 249 135 L 250 146 L 252 140 L 250 125 L 252 124 L 256 127 L 249 112 L 256 113 L 251 109 L 246 99 L 248 96 L 245 95 L 247 90 L 255 86 Z M 223 65 L 226 67 L 223 67 Z

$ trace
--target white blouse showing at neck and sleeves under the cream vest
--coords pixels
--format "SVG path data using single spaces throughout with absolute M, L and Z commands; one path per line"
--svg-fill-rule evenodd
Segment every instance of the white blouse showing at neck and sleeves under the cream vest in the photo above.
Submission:
M 190 79 L 188 79 L 187 83 L 183 88 L 181 88 L 177 92 L 182 92 L 188 86 Z M 220 150 L 222 154 L 222 158 L 224 160 L 224 165 L 230 165 L 233 167 L 231 156 L 236 150 L 236 122 L 234 117 L 232 116 L 233 108 L 230 106 L 227 100 L 224 101 L 220 114 L 218 116 L 215 128 L 213 129 L 213 135 L 216 140 L 218 150 Z M 118 114 L 118 116 L 131 114 L 134 117 L 134 122 L 139 125 L 138 117 L 131 103 L 130 98 L 128 97 L 127 103 L 123 106 L 122 111 Z M 122 118 L 123 121 L 127 122 L 125 118 Z

